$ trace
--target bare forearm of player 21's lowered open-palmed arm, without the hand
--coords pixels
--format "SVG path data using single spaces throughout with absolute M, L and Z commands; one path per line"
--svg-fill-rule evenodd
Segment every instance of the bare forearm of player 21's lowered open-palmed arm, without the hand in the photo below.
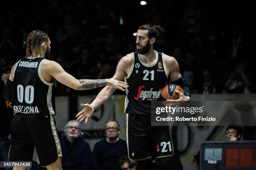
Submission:
M 97 95 L 95 100 L 93 100 L 93 102 L 90 104 L 92 108 L 95 110 L 101 105 L 103 105 L 103 103 L 105 103 L 111 97 L 111 95 L 113 95 L 114 91 L 115 89 L 109 86 L 106 86 L 105 88 L 103 88 L 100 91 L 100 93 Z

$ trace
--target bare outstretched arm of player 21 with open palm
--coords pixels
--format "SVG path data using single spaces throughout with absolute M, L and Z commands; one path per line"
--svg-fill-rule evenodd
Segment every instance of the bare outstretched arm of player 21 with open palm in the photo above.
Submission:
M 131 54 L 128 54 L 118 62 L 118 66 L 116 67 L 115 75 L 113 78 L 122 81 L 123 78 L 127 76 L 129 71 L 131 70 L 131 65 L 132 56 Z M 106 86 L 100 91 L 100 93 L 90 105 L 81 104 L 84 109 L 76 115 L 77 120 L 82 122 L 82 120 L 85 119 L 85 123 L 87 123 L 88 118 L 92 115 L 94 110 L 97 109 L 97 107 L 100 107 L 100 105 L 102 105 L 104 102 L 106 102 L 109 97 L 113 95 L 113 92 L 115 92 L 115 88 Z

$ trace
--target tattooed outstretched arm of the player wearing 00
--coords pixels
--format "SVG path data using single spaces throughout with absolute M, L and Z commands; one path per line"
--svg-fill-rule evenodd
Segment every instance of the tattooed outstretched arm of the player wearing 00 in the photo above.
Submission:
M 69 73 L 65 72 L 64 69 L 57 62 L 45 60 L 41 67 L 41 75 L 46 80 L 46 82 L 52 82 L 53 77 L 64 85 L 75 90 L 89 90 L 97 87 L 102 87 L 109 85 L 113 88 L 118 88 L 123 90 L 123 88 L 128 87 L 127 83 L 111 79 L 101 79 L 101 80 L 89 80 L 82 79 L 77 80 Z

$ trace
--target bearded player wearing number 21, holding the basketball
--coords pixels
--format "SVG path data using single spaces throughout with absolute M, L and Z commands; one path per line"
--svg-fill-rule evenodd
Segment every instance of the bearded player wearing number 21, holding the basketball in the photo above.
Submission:
M 167 80 L 181 86 L 180 101 L 190 100 L 190 91 L 179 73 L 179 65 L 174 57 L 153 49 L 154 42 L 164 30 L 157 25 L 142 25 L 136 34 L 136 52 L 123 57 L 116 68 L 114 77 L 125 79 L 125 113 L 127 113 L 127 146 L 129 159 L 137 164 L 138 170 L 151 169 L 151 162 L 158 162 L 159 169 L 167 170 L 169 158 L 174 155 L 169 127 L 151 127 L 151 101 L 159 99 L 161 88 Z M 80 122 L 92 115 L 115 91 L 112 87 L 103 88 L 95 100 L 81 104 L 84 109 L 77 114 Z

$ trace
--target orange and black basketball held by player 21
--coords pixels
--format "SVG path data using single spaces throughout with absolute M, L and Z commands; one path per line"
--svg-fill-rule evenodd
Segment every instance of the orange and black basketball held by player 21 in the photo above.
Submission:
M 175 92 L 175 90 L 178 90 L 182 93 L 184 93 L 182 87 L 179 87 L 178 85 L 166 85 L 162 90 L 159 99 L 161 101 L 166 101 L 167 99 L 177 100 L 179 98 L 179 94 Z

